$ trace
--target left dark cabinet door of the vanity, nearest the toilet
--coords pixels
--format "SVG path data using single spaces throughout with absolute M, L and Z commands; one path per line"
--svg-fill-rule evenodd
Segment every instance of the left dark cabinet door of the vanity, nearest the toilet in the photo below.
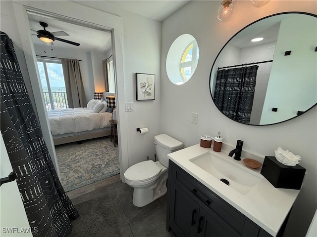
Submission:
M 177 237 L 196 237 L 199 205 L 171 182 L 170 227 Z

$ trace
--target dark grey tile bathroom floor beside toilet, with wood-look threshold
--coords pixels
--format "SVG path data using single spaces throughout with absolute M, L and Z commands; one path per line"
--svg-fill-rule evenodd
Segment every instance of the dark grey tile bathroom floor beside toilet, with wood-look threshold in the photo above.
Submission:
M 122 237 L 176 237 L 166 231 L 166 195 L 144 207 L 132 203 L 133 188 L 122 183 L 120 175 L 67 193 L 79 204 L 110 192 Z M 102 233 L 100 237 L 104 237 Z

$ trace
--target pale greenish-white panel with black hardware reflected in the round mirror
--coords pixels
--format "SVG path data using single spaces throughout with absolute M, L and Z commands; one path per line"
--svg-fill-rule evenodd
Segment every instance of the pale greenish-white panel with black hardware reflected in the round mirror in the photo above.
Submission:
M 261 124 L 296 117 L 297 111 L 306 111 L 317 101 L 317 23 L 311 19 L 311 16 L 298 15 L 281 21 Z M 288 50 L 291 55 L 284 56 Z M 273 107 L 277 112 L 272 112 Z

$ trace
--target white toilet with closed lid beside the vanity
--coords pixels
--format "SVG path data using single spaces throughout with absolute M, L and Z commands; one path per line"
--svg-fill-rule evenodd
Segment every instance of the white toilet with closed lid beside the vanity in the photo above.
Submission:
M 145 206 L 166 194 L 167 154 L 183 148 L 183 143 L 166 134 L 155 136 L 154 144 L 158 161 L 142 161 L 124 172 L 125 182 L 134 188 L 132 202 L 135 206 Z

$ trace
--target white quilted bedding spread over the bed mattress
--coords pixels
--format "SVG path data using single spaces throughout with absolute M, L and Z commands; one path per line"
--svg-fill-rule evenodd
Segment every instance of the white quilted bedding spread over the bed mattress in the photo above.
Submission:
M 87 108 L 48 111 L 52 134 L 65 134 L 110 127 L 112 114 L 93 113 Z

